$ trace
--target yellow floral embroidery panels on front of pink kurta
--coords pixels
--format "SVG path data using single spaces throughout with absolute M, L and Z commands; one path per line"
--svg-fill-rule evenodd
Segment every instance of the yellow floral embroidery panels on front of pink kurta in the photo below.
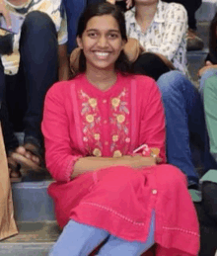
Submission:
M 90 155 L 102 156 L 104 136 L 102 134 L 104 113 L 99 106 L 99 99 L 91 97 L 84 90 L 78 92 L 81 105 L 83 142 Z M 123 88 L 115 97 L 108 100 L 109 108 L 109 151 L 110 156 L 120 157 L 126 154 L 130 145 L 129 134 L 129 93 Z M 92 149 L 91 149 L 92 148 Z

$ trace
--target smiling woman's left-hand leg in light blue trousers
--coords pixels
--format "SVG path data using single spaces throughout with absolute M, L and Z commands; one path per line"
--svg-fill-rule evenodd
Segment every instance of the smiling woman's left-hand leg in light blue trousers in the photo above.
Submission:
M 69 220 L 49 256 L 87 256 L 108 237 L 103 229 Z

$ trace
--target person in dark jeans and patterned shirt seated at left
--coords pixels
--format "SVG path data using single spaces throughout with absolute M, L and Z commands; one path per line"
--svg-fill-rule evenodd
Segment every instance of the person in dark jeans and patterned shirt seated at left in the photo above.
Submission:
M 0 13 L 8 25 L 7 31 L 0 30 L 1 118 L 7 120 L 3 133 L 8 156 L 15 169 L 18 164 L 37 169 L 44 95 L 55 81 L 69 77 L 66 16 L 60 0 L 0 0 Z M 23 130 L 24 144 L 18 146 L 13 131 Z

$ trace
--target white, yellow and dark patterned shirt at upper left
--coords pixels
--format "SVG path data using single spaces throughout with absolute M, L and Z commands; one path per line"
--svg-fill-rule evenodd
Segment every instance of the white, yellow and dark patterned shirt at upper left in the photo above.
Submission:
M 26 5 L 14 6 L 5 0 L 7 9 L 15 14 L 22 14 L 27 16 L 32 11 L 40 11 L 46 13 L 53 21 L 56 32 L 58 44 L 63 44 L 68 41 L 66 14 L 61 5 L 61 0 L 29 0 Z M 4 36 L 7 32 L 0 30 L 0 35 Z M 10 55 L 2 55 L 2 63 L 5 69 L 5 74 L 14 75 L 18 72 L 20 65 L 19 43 L 21 38 L 21 31 L 13 36 L 13 53 Z

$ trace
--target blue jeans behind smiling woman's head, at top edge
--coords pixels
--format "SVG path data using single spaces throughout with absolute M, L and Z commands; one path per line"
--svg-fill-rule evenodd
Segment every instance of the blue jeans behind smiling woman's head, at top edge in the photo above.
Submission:
M 95 4 L 105 2 L 104 0 L 63 0 L 66 9 L 67 23 L 68 23 L 68 52 L 70 53 L 75 47 L 76 43 L 76 34 L 78 21 L 86 8 L 87 4 Z

